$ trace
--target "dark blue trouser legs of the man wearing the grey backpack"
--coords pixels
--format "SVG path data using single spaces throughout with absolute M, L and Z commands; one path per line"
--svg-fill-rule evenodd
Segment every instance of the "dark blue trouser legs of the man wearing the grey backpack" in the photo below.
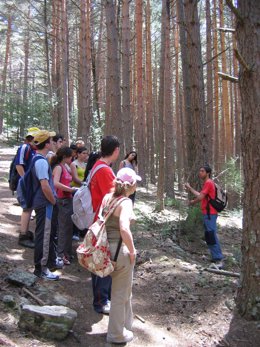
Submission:
M 92 276 L 92 289 L 93 289 L 93 306 L 96 312 L 102 311 L 102 306 L 105 306 L 111 299 L 111 276 L 99 277 L 94 274 Z

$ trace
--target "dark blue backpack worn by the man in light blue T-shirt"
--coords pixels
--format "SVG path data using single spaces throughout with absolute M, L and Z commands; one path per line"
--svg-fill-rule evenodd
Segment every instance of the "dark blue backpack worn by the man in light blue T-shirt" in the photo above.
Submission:
M 37 160 L 42 159 L 42 156 L 34 156 L 29 169 L 23 177 L 19 179 L 17 186 L 17 200 L 23 209 L 31 208 L 33 204 L 33 197 L 40 188 L 41 184 L 38 181 L 37 188 L 33 189 L 33 173 L 32 169 Z

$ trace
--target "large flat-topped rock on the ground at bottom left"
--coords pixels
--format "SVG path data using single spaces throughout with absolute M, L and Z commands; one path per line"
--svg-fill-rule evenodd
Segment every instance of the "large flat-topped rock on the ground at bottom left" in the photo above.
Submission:
M 63 340 L 72 329 L 77 312 L 65 306 L 23 305 L 19 328 L 48 338 Z

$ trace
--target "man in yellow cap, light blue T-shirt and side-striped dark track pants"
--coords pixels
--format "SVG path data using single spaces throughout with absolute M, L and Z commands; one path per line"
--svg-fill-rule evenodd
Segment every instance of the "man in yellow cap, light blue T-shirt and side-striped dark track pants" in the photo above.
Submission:
M 36 213 L 34 274 L 48 280 L 58 280 L 59 276 L 52 273 L 47 264 L 53 257 L 54 245 L 51 240 L 51 218 L 53 206 L 56 204 L 56 194 L 52 180 L 52 171 L 46 155 L 52 143 L 54 132 L 40 130 L 34 136 L 36 157 L 39 157 L 32 167 L 32 208 Z M 36 159 L 36 158 L 35 158 Z M 51 254 L 52 253 L 52 254 Z

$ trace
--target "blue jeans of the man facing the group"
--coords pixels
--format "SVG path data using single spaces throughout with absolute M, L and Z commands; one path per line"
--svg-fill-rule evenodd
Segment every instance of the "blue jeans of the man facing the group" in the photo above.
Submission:
M 223 259 L 220 243 L 217 236 L 217 214 L 203 215 L 203 224 L 205 229 L 205 239 L 211 253 L 213 261 Z

